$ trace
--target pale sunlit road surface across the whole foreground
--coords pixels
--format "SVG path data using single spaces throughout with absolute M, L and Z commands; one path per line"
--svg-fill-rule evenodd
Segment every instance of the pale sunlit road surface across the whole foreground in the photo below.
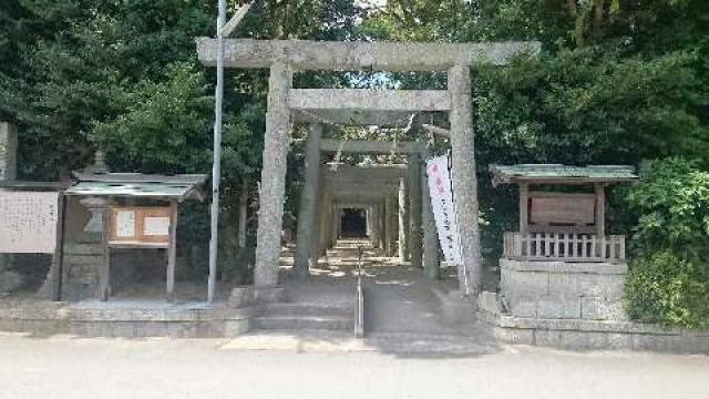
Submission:
M 294 338 L 297 341 L 298 338 Z M 0 398 L 706 398 L 709 357 L 450 355 L 0 335 Z

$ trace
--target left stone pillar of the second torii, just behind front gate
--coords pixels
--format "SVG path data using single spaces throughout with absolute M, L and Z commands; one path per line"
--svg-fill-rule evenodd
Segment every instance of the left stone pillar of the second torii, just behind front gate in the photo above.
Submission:
M 299 276 L 308 275 L 310 258 L 310 241 L 312 239 L 315 225 L 315 214 L 318 211 L 318 177 L 320 177 L 320 137 L 322 136 L 322 124 L 314 123 L 308 132 L 306 143 L 306 178 L 300 192 L 300 213 L 298 215 L 298 242 L 296 244 L 296 256 L 294 259 L 294 272 Z M 317 259 L 315 259 L 317 263 Z

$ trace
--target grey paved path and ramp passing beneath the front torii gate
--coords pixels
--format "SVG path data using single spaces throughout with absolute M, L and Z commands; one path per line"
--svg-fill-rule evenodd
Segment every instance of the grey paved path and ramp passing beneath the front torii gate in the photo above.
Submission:
M 363 249 L 364 315 L 368 334 L 415 332 L 464 335 L 482 338 L 473 306 L 462 299 L 455 270 L 444 268 L 440 280 L 429 280 L 422 269 L 384 257 L 363 241 L 340 239 L 320 259 L 312 276 L 302 282 L 291 276 L 291 257 L 284 253 L 281 283 L 289 300 L 298 303 L 353 304 L 358 275 L 358 246 Z

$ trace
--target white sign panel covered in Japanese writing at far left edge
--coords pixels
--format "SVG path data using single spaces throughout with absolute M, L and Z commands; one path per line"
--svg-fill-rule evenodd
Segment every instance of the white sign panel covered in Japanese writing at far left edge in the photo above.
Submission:
M 59 193 L 0 191 L 0 254 L 53 254 Z

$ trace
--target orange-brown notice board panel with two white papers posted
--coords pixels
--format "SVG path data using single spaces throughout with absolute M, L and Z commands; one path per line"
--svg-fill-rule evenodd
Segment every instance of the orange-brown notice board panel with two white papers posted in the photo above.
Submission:
M 173 216 L 169 206 L 112 207 L 110 244 L 167 247 Z

